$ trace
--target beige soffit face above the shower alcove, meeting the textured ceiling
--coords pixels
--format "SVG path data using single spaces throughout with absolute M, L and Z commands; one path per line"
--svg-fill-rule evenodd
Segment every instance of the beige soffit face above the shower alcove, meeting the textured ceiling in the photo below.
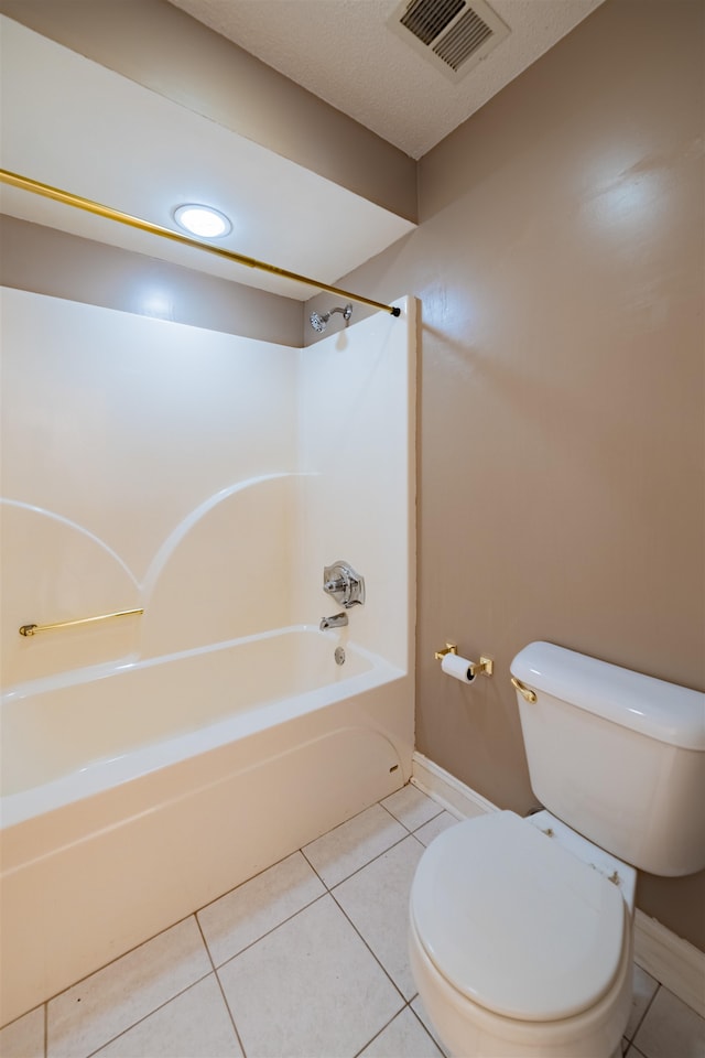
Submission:
M 416 219 L 416 164 L 167 0 L 0 0 L 0 12 Z

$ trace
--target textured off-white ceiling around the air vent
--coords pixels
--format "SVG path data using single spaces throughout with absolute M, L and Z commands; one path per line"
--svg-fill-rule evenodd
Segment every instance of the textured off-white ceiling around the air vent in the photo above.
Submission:
M 511 32 L 457 84 L 387 25 L 399 0 L 171 0 L 422 158 L 603 0 L 491 0 Z

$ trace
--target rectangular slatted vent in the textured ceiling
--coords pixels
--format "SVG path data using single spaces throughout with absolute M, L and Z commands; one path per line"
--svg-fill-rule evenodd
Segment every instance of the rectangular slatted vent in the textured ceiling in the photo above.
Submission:
M 454 82 L 510 32 L 485 0 L 403 0 L 388 25 Z

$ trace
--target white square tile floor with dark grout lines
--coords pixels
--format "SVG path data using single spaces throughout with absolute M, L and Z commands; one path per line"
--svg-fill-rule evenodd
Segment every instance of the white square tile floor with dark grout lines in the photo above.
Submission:
M 441 1058 L 406 958 L 426 845 L 406 786 L 0 1033 L 2 1058 Z M 629 1058 L 704 1058 L 705 1021 L 634 967 Z

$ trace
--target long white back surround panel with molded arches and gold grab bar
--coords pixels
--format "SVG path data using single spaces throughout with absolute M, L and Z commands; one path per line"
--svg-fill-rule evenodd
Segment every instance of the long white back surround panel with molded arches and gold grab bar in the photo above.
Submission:
M 2 345 L 6 683 L 292 619 L 294 350 L 15 290 Z

